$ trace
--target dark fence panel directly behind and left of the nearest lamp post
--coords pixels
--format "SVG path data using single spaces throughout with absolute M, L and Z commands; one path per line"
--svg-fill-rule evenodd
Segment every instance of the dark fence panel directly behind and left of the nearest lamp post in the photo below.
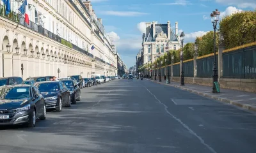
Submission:
M 216 67 L 218 69 L 218 56 L 216 56 Z M 196 60 L 196 77 L 211 78 L 213 74 L 212 69 L 213 69 L 213 56 Z

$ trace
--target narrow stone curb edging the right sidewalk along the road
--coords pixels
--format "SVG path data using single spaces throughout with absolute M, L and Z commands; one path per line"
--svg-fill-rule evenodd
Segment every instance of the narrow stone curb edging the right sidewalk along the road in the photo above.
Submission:
M 150 80 L 150 79 L 147 79 L 147 78 L 146 78 L 146 80 L 149 80 L 151 82 L 155 82 L 154 80 Z M 215 99 L 215 100 L 218 100 L 218 101 L 221 101 L 221 102 L 224 102 L 224 103 L 229 103 L 231 105 L 239 106 L 239 107 L 244 108 L 246 110 L 252 110 L 252 111 L 256 112 L 256 105 L 253 106 L 253 105 L 250 105 L 250 104 L 237 103 L 236 101 L 232 101 L 232 100 L 227 99 L 227 98 L 219 98 L 218 96 L 212 96 L 211 94 L 207 94 L 205 92 L 200 92 L 200 91 L 195 91 L 193 89 L 188 89 L 186 87 L 181 87 L 179 85 L 163 84 L 161 82 L 155 82 L 155 83 L 161 84 L 161 85 L 172 86 L 172 87 L 178 88 L 178 89 L 183 90 L 183 91 L 189 91 L 189 92 L 192 92 L 192 93 L 195 93 L 195 94 L 199 94 L 199 95 L 207 97 L 207 98 Z

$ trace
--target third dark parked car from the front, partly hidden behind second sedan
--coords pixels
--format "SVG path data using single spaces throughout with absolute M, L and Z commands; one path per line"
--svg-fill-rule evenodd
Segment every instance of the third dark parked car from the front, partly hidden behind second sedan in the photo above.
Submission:
M 74 80 L 61 80 L 68 90 L 70 91 L 70 99 L 73 104 L 76 104 L 76 101 L 80 101 L 81 99 L 81 90 L 78 87 L 77 83 Z

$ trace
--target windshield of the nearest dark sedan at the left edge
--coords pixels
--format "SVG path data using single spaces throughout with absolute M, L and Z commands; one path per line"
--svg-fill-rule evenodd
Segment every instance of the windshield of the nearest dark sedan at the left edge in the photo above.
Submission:
M 13 87 L 0 89 L 0 99 L 29 98 L 29 87 Z

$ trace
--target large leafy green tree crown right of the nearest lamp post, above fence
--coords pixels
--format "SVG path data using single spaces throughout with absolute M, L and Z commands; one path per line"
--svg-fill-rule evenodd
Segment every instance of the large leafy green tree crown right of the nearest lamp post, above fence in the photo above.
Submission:
M 226 48 L 256 41 L 256 10 L 241 11 L 224 17 L 220 22 Z

